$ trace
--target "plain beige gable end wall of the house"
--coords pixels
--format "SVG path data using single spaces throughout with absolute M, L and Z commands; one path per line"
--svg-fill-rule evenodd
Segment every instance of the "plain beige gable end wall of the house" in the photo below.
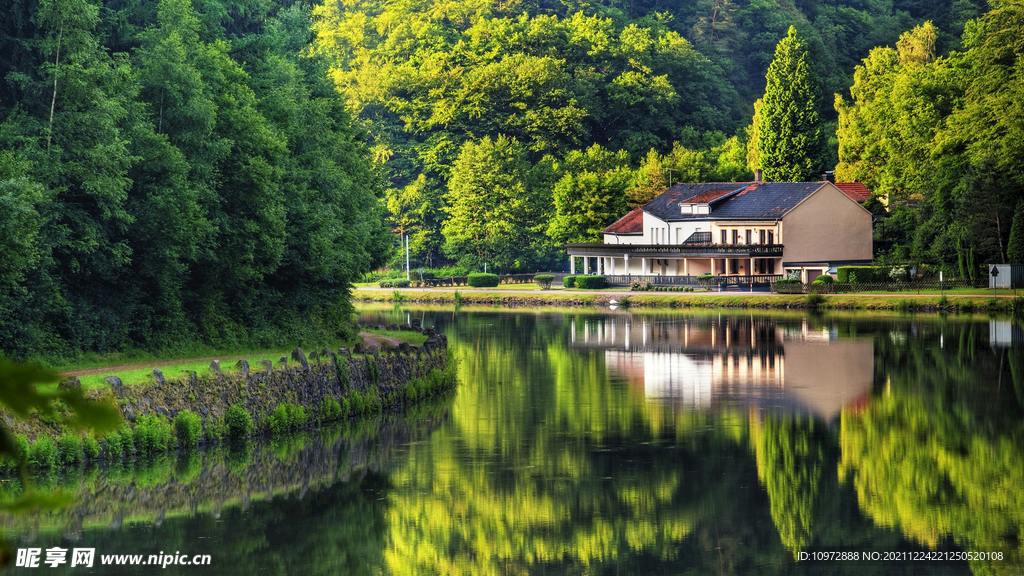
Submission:
M 871 213 L 830 183 L 782 217 L 787 262 L 870 260 Z

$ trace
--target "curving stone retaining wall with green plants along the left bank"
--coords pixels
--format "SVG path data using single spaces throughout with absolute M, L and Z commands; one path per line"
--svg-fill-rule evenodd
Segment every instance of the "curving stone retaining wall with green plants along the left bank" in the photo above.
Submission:
M 351 416 L 412 406 L 455 385 L 455 365 L 447 338 L 430 328 L 391 327 L 419 332 L 423 345 L 399 342 L 356 344 L 309 354 L 295 348 L 279 361 L 240 360 L 222 368 L 218 361 L 205 374 L 188 371 L 167 377 L 160 369 L 144 382 L 126 385 L 117 376 L 106 386 L 85 390 L 97 402 L 115 404 L 124 419 L 119 433 L 102 440 L 82 437 L 40 418 L 14 419 L 0 411 L 15 436 L 17 450 L 37 468 L 88 460 L 119 460 L 191 448 L 255 435 L 276 435 Z M 61 386 L 80 385 L 69 378 Z M 9 467 L 12 461 L 3 462 Z

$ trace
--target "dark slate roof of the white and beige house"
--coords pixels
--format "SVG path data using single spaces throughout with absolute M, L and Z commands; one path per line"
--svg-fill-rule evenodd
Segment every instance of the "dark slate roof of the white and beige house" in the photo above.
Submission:
M 782 217 L 797 204 L 821 188 L 823 183 L 713 182 L 676 184 L 644 205 L 643 210 L 666 221 L 775 219 Z M 712 198 L 712 200 L 706 200 L 708 198 Z M 691 203 L 713 204 L 711 214 L 680 213 L 680 204 Z

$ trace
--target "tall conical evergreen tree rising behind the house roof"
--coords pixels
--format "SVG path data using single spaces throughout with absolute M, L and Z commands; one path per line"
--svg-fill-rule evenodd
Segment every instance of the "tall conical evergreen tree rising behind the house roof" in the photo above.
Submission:
M 814 180 L 824 168 L 825 135 L 818 116 L 810 56 L 797 29 L 775 48 L 768 67 L 757 146 L 766 180 Z

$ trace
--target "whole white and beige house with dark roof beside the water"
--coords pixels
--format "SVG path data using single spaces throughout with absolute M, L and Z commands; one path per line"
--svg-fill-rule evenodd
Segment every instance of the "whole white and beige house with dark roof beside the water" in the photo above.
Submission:
M 841 265 L 871 262 L 870 196 L 858 182 L 679 183 L 604 229 L 604 242 L 566 244 L 570 269 L 610 284 L 811 282 Z M 593 268 L 592 268 L 593 265 Z

